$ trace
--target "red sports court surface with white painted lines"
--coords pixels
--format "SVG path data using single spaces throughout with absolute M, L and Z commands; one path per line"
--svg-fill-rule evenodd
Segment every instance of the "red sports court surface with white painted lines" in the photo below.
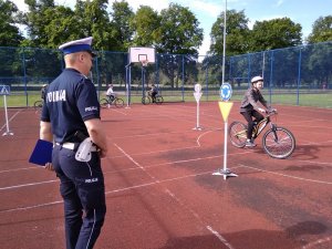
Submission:
M 228 143 L 217 102 L 103 110 L 107 215 L 95 248 L 332 248 L 332 110 L 274 106 L 297 138 L 288 159 Z M 28 163 L 39 136 L 33 110 L 9 110 L 0 137 L 1 248 L 64 248 L 63 204 L 53 173 Z M 242 121 L 238 104 L 228 123 Z M 1 110 L 1 134 L 6 132 Z

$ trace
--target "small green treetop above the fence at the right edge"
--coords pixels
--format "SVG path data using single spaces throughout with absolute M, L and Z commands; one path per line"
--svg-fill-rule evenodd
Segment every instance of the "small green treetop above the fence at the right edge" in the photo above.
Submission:
M 332 15 L 315 20 L 307 41 L 308 43 L 332 41 Z

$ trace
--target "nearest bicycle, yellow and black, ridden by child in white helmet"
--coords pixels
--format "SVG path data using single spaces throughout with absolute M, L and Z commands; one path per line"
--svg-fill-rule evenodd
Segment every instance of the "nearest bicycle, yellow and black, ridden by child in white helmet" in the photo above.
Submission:
M 277 126 L 271 121 L 271 116 L 277 115 L 276 110 L 267 111 L 267 116 L 258 124 L 255 124 L 252 138 L 257 138 L 262 131 L 270 124 L 270 128 L 263 134 L 262 137 L 262 147 L 264 152 L 273 157 L 279 159 L 284 159 L 289 157 L 295 149 L 295 137 L 293 134 L 281 126 Z M 234 146 L 242 148 L 246 146 L 247 141 L 247 125 L 235 121 L 229 125 L 228 134 L 230 142 Z

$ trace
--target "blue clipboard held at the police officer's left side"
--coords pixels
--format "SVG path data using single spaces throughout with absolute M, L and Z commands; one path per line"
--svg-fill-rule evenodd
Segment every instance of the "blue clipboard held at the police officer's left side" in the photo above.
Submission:
M 29 163 L 37 164 L 39 166 L 45 166 L 46 163 L 52 163 L 52 151 L 53 143 L 38 139 Z

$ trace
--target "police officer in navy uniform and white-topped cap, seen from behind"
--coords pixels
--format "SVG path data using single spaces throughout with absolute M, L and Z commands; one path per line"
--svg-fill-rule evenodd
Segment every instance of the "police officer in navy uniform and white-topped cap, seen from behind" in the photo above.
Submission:
M 107 144 L 96 90 L 87 79 L 95 55 L 91 43 L 92 38 L 85 38 L 59 46 L 65 69 L 48 86 L 40 122 L 40 138 L 54 143 L 45 168 L 60 178 L 68 249 L 93 248 L 106 214 L 101 157 Z M 91 158 L 81 162 L 75 155 L 86 138 Z

